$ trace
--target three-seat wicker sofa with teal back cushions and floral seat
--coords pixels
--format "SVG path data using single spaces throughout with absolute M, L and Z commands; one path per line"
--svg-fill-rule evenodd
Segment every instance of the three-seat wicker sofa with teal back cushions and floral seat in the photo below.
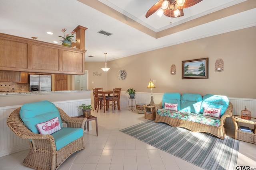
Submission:
M 184 127 L 193 132 L 210 133 L 220 139 L 226 136 L 224 123 L 226 117 L 232 116 L 233 108 L 226 96 L 188 93 L 165 93 L 160 104 L 154 106 L 155 122 L 165 122 L 172 127 Z M 207 113 L 208 109 L 217 109 L 220 118 L 213 117 L 215 112 Z M 210 116 L 204 115 L 205 113 Z

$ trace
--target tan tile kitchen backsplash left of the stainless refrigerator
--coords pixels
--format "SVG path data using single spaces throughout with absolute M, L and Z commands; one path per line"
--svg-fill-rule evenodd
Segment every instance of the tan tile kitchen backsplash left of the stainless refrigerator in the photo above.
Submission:
M 28 92 L 28 84 L 15 82 L 0 82 L 0 91 Z

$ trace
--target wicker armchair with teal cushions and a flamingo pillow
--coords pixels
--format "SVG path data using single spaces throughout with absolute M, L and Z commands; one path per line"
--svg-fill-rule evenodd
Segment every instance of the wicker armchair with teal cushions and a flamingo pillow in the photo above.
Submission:
M 55 120 L 57 117 L 60 120 L 57 127 L 47 129 L 46 126 L 42 126 L 42 129 L 45 129 L 44 133 L 53 133 L 41 134 L 38 124 L 47 125 L 49 119 Z M 67 127 L 62 127 L 62 122 L 66 123 Z M 86 118 L 69 117 L 62 109 L 49 101 L 24 104 L 7 118 L 8 127 L 18 137 L 28 139 L 30 150 L 23 163 L 38 170 L 55 170 L 72 153 L 85 148 L 85 122 Z M 54 129 L 58 131 L 54 132 Z

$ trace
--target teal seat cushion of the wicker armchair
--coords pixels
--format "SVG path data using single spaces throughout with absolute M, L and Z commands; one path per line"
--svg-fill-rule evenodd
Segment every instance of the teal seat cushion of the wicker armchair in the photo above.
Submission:
M 62 127 L 60 131 L 52 133 L 56 144 L 56 150 L 60 150 L 83 135 L 84 130 L 82 128 L 73 127 Z

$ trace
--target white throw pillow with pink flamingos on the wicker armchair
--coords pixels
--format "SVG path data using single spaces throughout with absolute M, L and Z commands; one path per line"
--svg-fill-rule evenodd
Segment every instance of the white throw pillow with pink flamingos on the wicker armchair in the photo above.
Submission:
M 39 123 L 36 125 L 40 134 L 42 135 L 50 135 L 56 131 L 59 131 L 61 129 L 59 118 L 55 117 L 49 121 Z

